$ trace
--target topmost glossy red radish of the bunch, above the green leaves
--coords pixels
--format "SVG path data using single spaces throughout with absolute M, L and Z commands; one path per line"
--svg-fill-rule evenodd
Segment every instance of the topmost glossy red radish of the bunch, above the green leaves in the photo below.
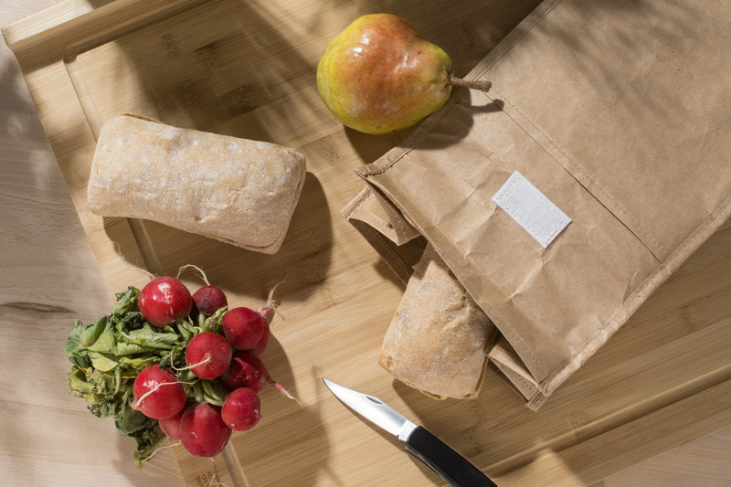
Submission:
M 155 278 L 140 291 L 140 311 L 150 324 L 164 328 L 190 313 L 193 298 L 185 284 L 168 276 Z

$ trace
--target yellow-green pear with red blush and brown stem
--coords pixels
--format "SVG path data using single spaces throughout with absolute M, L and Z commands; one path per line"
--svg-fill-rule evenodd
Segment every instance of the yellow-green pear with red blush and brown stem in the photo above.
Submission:
M 317 65 L 317 90 L 335 118 L 373 134 L 397 132 L 439 110 L 452 86 L 486 91 L 490 85 L 453 77 L 449 55 L 390 14 L 356 18 Z

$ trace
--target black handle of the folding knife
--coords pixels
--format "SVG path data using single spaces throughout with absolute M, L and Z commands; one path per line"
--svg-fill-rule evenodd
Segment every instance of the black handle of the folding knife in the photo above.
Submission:
M 496 487 L 482 471 L 420 426 L 411 432 L 404 448 L 452 487 Z

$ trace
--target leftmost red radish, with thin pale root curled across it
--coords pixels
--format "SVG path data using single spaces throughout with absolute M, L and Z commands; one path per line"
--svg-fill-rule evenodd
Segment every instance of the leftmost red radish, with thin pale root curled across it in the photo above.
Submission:
M 147 365 L 132 384 L 135 400 L 132 408 L 147 418 L 164 419 L 175 416 L 185 407 L 185 390 L 169 368 Z

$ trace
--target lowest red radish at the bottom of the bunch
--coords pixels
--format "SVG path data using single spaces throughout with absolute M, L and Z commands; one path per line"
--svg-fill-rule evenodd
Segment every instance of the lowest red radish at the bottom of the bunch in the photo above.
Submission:
M 202 402 L 185 409 L 180 420 L 180 441 L 196 457 L 215 457 L 226 447 L 231 429 L 221 418 L 220 408 Z

